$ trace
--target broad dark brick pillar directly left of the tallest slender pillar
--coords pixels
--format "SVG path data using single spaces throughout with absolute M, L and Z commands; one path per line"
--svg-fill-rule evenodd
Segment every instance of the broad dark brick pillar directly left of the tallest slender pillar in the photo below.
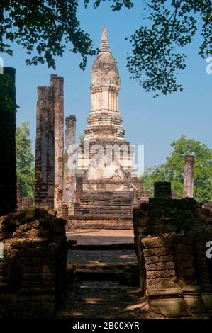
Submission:
M 38 86 L 35 148 L 35 205 L 54 208 L 55 140 L 54 91 Z

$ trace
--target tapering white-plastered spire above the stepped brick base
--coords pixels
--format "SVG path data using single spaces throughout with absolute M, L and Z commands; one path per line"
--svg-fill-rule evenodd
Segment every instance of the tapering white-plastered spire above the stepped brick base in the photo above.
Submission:
M 99 54 L 91 69 L 91 112 L 84 137 L 89 140 L 123 142 L 122 116 L 118 112 L 120 79 L 116 60 L 108 45 L 107 29 L 102 29 Z

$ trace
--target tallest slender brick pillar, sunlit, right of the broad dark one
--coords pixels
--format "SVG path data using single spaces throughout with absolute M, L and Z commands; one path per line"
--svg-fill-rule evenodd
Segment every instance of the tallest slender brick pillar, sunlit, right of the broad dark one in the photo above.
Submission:
M 51 87 L 54 92 L 55 115 L 55 193 L 54 208 L 58 216 L 62 216 L 62 187 L 63 187 L 63 77 L 51 75 Z

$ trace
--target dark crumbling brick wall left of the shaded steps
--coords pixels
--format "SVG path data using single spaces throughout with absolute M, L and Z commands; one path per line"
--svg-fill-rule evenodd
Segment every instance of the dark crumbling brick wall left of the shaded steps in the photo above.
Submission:
M 0 218 L 0 318 L 54 317 L 65 282 L 65 220 L 44 208 Z

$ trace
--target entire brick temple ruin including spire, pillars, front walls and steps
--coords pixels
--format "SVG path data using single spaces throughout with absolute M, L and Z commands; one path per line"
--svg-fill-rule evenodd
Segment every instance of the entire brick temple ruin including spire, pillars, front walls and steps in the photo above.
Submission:
M 15 84 L 14 69 L 6 72 Z M 35 206 L 16 184 L 15 164 L 9 169 L 16 113 L 0 110 L 0 144 L 9 152 L 0 179 L 0 318 L 211 317 L 212 204 L 193 198 L 194 157 L 185 157 L 183 198 L 166 181 L 155 182 L 150 198 L 133 169 L 119 89 L 106 28 L 79 145 L 75 115 L 65 118 L 64 133 L 63 78 L 52 74 L 50 86 L 38 86 Z M 80 247 L 68 239 L 78 228 L 129 232 L 132 241 Z

